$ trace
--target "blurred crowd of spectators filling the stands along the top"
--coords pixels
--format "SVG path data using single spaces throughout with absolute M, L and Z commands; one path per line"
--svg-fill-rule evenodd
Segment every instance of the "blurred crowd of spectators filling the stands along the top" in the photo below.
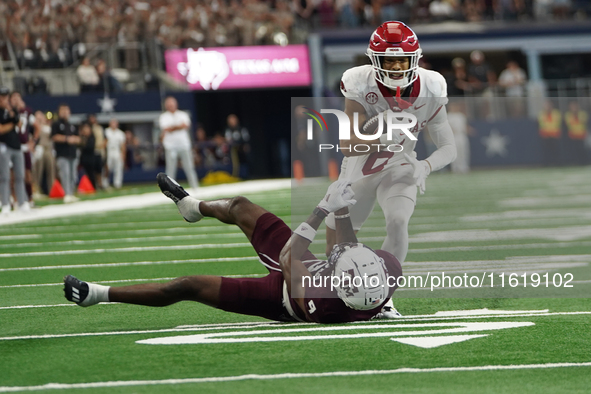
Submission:
M 75 45 L 117 43 L 120 60 L 137 70 L 134 43 L 165 48 L 305 42 L 311 28 L 376 26 L 386 20 L 429 23 L 587 18 L 588 0 L 109 0 L 0 2 L 0 37 L 25 67 L 70 65 Z M 80 50 L 84 54 L 86 50 Z M 95 86 L 90 83 L 87 86 Z

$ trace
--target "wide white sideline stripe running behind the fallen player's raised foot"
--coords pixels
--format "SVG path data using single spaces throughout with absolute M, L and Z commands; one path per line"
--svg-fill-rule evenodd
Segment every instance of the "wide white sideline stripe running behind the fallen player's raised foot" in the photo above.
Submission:
M 154 186 L 156 188 L 156 186 Z M 245 193 L 260 193 L 291 188 L 291 179 L 274 179 L 246 181 L 225 185 L 201 187 L 193 196 L 199 199 L 211 199 L 218 197 L 233 197 Z M 14 213 L 9 217 L 0 219 L 0 226 L 39 221 L 66 216 L 88 215 L 107 211 L 124 211 L 138 209 L 154 205 L 172 204 L 170 199 L 162 193 L 146 193 L 140 195 L 120 196 L 100 200 L 80 201 L 67 205 L 48 205 L 34 209 L 29 213 Z

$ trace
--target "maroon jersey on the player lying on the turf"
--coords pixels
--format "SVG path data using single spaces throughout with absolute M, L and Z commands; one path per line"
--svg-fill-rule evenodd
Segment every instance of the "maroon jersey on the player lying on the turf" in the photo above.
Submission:
M 376 250 L 375 252 L 384 259 L 389 276 L 398 278 L 402 275 L 402 268 L 396 257 L 383 250 Z M 334 271 L 334 264 L 326 260 L 306 260 L 303 263 L 313 277 L 330 277 Z M 304 296 L 305 311 L 302 311 L 295 300 L 290 297 L 291 307 L 300 320 L 316 323 L 347 323 L 369 320 L 380 313 L 382 307 L 392 297 L 392 293 L 394 293 L 397 287 L 391 287 L 388 292 L 388 299 L 374 309 L 360 311 L 346 306 L 338 297 L 336 289 L 331 289 L 330 281 L 328 281 L 328 284 L 326 287 L 306 287 Z

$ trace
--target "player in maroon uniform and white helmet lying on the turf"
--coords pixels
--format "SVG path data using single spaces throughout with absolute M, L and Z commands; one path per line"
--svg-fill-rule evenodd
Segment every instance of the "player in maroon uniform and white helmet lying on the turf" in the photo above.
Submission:
M 102 286 L 67 276 L 64 292 L 69 301 L 80 306 L 99 302 L 167 306 L 179 301 L 197 301 L 228 312 L 271 320 L 318 323 L 396 316 L 396 311 L 382 312 L 382 306 L 397 287 L 395 282 L 402 275 L 400 263 L 388 252 L 374 252 L 357 243 L 347 208 L 355 200 L 346 181 L 333 183 L 314 212 L 293 233 L 277 216 L 244 197 L 200 201 L 163 173 L 158 174 L 158 185 L 176 203 L 186 221 L 197 222 L 207 216 L 240 227 L 269 275 L 254 279 L 195 275 L 168 283 L 122 287 Z M 337 245 L 328 261 L 323 261 L 310 253 L 308 246 L 330 212 L 337 219 Z M 333 276 L 341 279 L 358 276 L 365 280 L 349 278 L 338 285 L 325 280 L 326 286 L 316 286 L 318 281 L 312 281 Z

